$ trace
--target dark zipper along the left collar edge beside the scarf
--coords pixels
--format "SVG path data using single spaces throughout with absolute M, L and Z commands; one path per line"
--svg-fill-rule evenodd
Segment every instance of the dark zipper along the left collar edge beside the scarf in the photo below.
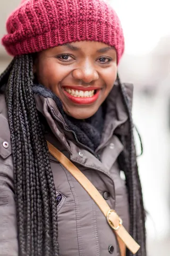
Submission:
M 74 136 L 74 139 L 75 139 L 75 141 L 78 143 L 78 145 L 80 145 L 80 146 L 83 147 L 83 148 L 86 148 L 92 155 L 94 155 L 94 156 L 100 161 L 100 157 L 99 157 L 91 148 L 89 148 L 89 147 L 87 147 L 86 145 L 82 144 L 82 143 L 78 140 L 78 137 L 77 137 L 76 133 L 75 133 L 73 130 L 70 130 L 70 129 L 67 129 L 67 128 L 66 128 L 65 124 L 61 121 L 61 119 L 60 119 L 58 116 L 56 116 L 55 111 L 54 111 L 51 107 L 50 107 L 49 109 L 50 109 L 50 112 L 51 112 L 53 118 L 54 118 L 58 123 L 62 124 L 62 126 L 63 126 L 63 128 L 64 128 L 64 131 L 72 133 L 73 136 Z

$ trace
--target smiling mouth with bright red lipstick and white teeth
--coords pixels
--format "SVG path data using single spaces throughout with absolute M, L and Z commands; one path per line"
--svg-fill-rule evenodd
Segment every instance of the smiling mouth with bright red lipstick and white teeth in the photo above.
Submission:
M 87 90 L 87 88 L 78 90 L 78 88 L 73 89 L 71 87 L 63 87 L 63 92 L 65 96 L 72 102 L 80 105 L 94 103 L 98 99 L 100 91 L 101 89 L 95 90 L 93 87 L 89 87 L 89 90 Z

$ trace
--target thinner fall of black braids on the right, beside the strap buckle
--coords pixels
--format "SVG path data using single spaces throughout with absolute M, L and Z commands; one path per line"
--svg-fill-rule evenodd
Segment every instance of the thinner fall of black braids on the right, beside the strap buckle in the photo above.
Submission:
M 122 136 L 121 140 L 124 145 L 124 150 L 118 158 L 118 163 L 125 173 L 126 186 L 129 192 L 129 206 L 130 206 L 130 234 L 137 241 L 141 248 L 136 254 L 138 256 L 145 256 L 146 253 L 146 229 L 145 229 L 145 209 L 143 206 L 142 188 L 139 178 L 137 156 L 133 137 L 133 121 L 131 115 L 131 108 L 129 106 L 128 94 L 124 86 L 117 76 L 117 82 L 120 86 L 123 102 L 129 116 L 129 134 Z M 127 256 L 133 255 L 127 251 Z

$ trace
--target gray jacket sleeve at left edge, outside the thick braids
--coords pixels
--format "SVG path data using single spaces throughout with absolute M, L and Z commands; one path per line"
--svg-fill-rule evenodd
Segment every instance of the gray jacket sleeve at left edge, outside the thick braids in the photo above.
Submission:
M 10 129 L 0 94 L 0 256 L 18 256 Z

